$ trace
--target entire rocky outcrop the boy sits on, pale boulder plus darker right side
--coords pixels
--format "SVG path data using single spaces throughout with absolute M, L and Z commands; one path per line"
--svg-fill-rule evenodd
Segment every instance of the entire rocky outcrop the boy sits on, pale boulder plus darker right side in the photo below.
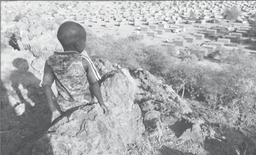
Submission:
M 191 112 L 170 86 L 148 71 L 121 68 L 105 59 L 96 59 L 95 65 L 110 115 L 104 116 L 98 104 L 71 109 L 44 133 L 30 138 L 30 153 L 127 154 L 132 143 L 140 143 L 145 151 L 150 148 L 143 136 L 146 130 L 161 140 L 162 116 Z M 172 123 L 177 121 L 178 117 Z

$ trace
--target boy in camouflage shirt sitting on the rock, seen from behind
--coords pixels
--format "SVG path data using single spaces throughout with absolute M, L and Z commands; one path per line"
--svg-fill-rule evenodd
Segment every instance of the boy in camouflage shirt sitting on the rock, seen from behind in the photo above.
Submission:
M 90 58 L 80 54 L 85 49 L 85 29 L 78 23 L 65 22 L 60 25 L 57 37 L 64 52 L 54 51 L 54 55 L 48 58 L 40 83 L 52 112 L 52 122 L 61 112 L 92 102 L 93 95 L 105 115 L 108 115 L 109 110 L 103 102 L 98 83 L 100 75 Z M 58 106 L 54 104 L 52 96 L 54 80 L 58 91 Z

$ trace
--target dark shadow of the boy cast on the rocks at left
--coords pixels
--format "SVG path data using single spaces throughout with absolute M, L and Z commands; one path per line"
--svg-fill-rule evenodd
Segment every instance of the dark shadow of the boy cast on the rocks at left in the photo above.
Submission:
M 30 120 L 29 117 L 36 117 L 39 113 L 49 112 L 47 101 L 44 99 L 43 90 L 39 86 L 40 80 L 33 73 L 28 71 L 28 61 L 17 58 L 13 60 L 12 64 L 17 70 L 11 71 L 11 86 L 21 101 L 17 102 L 13 108 L 16 108 L 20 104 L 24 104 L 25 111 L 21 115 L 24 116 L 23 121 L 28 121 Z M 54 99 L 55 98 L 56 97 L 54 96 Z

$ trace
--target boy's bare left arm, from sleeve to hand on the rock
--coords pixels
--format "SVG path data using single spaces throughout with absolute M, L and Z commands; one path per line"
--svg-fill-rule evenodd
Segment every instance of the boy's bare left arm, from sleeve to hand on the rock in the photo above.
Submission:
M 61 111 L 58 109 L 58 106 L 54 103 L 52 88 L 50 86 L 43 86 L 44 96 L 49 104 L 50 111 L 52 112 L 52 120 L 53 122 L 56 118 L 61 115 Z

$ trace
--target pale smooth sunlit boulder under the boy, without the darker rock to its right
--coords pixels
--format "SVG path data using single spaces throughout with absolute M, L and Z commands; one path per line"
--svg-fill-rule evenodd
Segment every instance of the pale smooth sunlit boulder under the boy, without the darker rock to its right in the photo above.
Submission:
M 126 145 L 142 139 L 145 132 L 140 107 L 134 104 L 134 83 L 127 69 L 107 73 L 102 77 L 101 92 L 110 115 L 103 116 L 99 105 L 75 110 L 49 128 L 48 132 L 54 134 L 35 139 L 34 148 L 46 150 L 47 143 L 51 143 L 53 154 L 125 154 Z

